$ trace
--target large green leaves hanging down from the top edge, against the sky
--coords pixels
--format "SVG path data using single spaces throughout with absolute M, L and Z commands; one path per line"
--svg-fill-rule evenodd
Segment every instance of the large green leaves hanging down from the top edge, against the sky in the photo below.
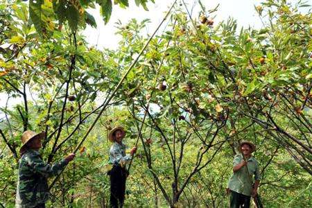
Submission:
M 151 0 L 154 2 L 153 0 Z M 136 0 L 137 6 L 143 6 L 145 10 L 147 0 Z M 114 4 L 126 8 L 129 6 L 128 0 L 114 1 Z M 86 24 L 96 27 L 94 17 L 87 12 L 89 8 L 101 7 L 101 15 L 105 24 L 110 20 L 112 15 L 112 0 L 31 0 L 29 2 L 29 15 L 35 25 L 37 33 L 43 37 L 51 37 L 56 28 L 62 27 L 62 24 L 68 23 L 71 30 L 76 31 L 78 28 L 85 28 Z M 56 24 L 55 24 L 56 23 Z

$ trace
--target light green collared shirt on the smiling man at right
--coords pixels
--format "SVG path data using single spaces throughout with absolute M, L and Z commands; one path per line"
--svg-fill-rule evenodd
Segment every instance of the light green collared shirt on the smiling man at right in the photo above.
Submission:
M 243 162 L 243 155 L 235 155 L 233 160 L 233 167 Z M 261 180 L 259 173 L 259 165 L 257 159 L 250 157 L 247 161 L 249 175 L 246 170 L 246 166 L 243 166 L 239 171 L 233 173 L 229 178 L 228 188 L 237 193 L 242 193 L 245 196 L 251 196 L 252 193 L 252 176 L 254 180 Z M 248 177 L 250 179 L 248 179 Z

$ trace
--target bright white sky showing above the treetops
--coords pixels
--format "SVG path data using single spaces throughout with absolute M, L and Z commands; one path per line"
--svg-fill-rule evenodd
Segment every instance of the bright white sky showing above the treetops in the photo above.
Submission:
M 98 49 L 103 49 L 103 47 L 116 49 L 120 37 L 119 35 L 114 34 L 116 33 L 114 25 L 118 19 L 120 19 L 123 24 L 126 24 L 132 18 L 135 18 L 138 21 L 148 18 L 151 22 L 148 24 L 146 32 L 151 34 L 155 31 L 155 28 L 160 21 L 162 21 L 166 11 L 170 8 L 173 1 L 174 0 L 155 0 L 155 4 L 148 3 L 149 11 L 146 11 L 141 6 L 137 7 L 134 0 L 130 0 L 129 8 L 123 9 L 119 8 L 119 6 L 113 7 L 112 17 L 107 25 L 104 24 L 99 10 L 89 10 L 89 12 L 94 15 L 98 28 L 87 26 L 83 35 L 85 35 L 86 40 L 90 45 L 95 46 L 97 44 Z M 194 5 L 194 1 L 198 2 L 198 0 L 184 0 L 188 5 L 189 10 L 191 10 L 191 7 Z M 219 21 L 228 19 L 228 17 L 233 17 L 237 20 L 238 28 L 241 28 L 241 26 L 245 28 L 248 26 L 259 28 L 261 27 L 261 21 L 254 10 L 254 5 L 258 6 L 261 1 L 262 0 L 202 0 L 202 3 L 207 10 L 215 8 L 218 3 L 220 3 L 218 11 L 212 14 L 212 16 L 216 15 L 216 18 L 214 19 L 215 24 Z M 177 5 L 179 5 L 180 1 L 177 2 Z M 186 11 L 184 5 L 181 6 L 181 8 Z M 196 7 L 193 10 L 193 17 L 198 17 L 199 11 L 200 6 L 196 3 Z M 162 30 L 160 30 L 160 32 L 161 31 Z

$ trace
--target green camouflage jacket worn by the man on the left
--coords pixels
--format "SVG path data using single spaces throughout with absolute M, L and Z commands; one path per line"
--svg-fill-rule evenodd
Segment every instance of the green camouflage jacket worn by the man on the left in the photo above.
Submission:
M 57 175 L 67 165 L 65 159 L 46 164 L 35 150 L 27 150 L 19 159 L 15 207 L 35 207 L 49 198 L 47 178 Z

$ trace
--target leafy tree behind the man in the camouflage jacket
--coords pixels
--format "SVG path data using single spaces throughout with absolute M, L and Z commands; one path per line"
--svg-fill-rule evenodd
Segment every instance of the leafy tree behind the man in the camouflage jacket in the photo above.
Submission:
M 114 3 L 128 7 L 128 1 Z M 136 3 L 147 9 L 147 1 Z M 6 170 L 1 172 L 5 177 L 1 198 L 8 202 L 15 198 L 13 171 L 19 159 L 21 133 L 28 129 L 45 131 L 44 158 L 47 162 L 59 159 L 64 150 L 73 150 L 86 124 L 98 114 L 102 106 L 95 99 L 105 99 L 100 97 L 109 96 L 119 81 L 121 68 L 110 58 L 114 52 L 98 51 L 80 35 L 86 24 L 96 26 L 85 10 L 97 4 L 107 23 L 112 1 L 4 1 L 0 5 L 0 92 L 8 96 L 6 107 L 1 108 L 1 147 L 7 147 L 1 150 L 1 157 L 6 156 L 3 161 L 7 160 L 1 164 L 1 169 Z M 8 106 L 9 100 L 17 97 L 22 102 Z M 62 196 L 58 205 L 72 204 L 75 193 L 68 194 L 69 189 L 94 170 L 77 171 L 76 166 L 68 173 L 72 180 L 65 183 L 67 175 L 63 174 L 62 183 L 52 190 L 53 201 Z

